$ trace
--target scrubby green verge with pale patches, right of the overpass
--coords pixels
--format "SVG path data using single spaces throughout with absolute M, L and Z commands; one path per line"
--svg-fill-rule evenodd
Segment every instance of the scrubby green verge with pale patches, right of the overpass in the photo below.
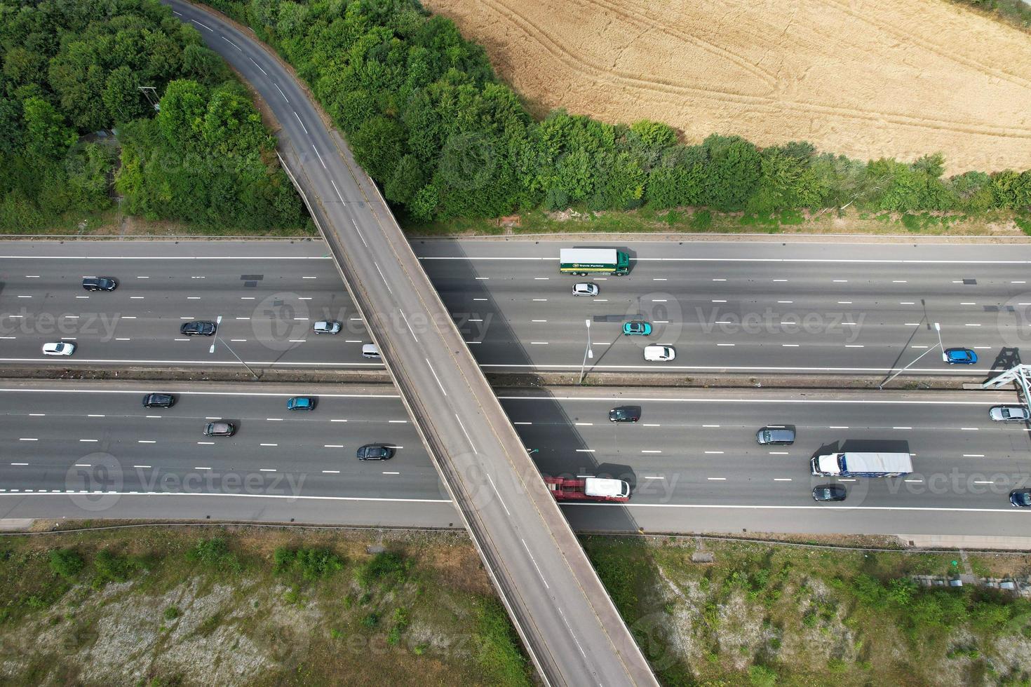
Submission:
M 914 575 L 1026 576 L 1031 556 L 586 537 L 666 685 L 1026 685 L 1031 603 Z

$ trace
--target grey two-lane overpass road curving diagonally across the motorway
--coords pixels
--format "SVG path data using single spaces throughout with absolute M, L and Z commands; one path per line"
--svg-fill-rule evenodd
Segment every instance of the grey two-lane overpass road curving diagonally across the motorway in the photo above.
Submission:
M 658 684 L 373 182 L 248 32 L 181 0 L 250 81 L 415 427 L 538 671 L 551 684 Z

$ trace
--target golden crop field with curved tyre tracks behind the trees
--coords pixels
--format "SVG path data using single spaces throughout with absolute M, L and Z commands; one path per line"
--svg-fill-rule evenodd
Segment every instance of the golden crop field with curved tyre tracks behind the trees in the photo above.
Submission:
M 427 0 L 542 113 L 1031 168 L 1031 37 L 943 0 Z

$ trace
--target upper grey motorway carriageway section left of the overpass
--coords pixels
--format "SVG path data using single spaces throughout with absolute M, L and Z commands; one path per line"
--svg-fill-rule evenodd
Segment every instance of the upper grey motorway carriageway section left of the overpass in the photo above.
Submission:
M 323 241 L 0 243 L 0 363 L 371 368 L 371 339 Z M 119 281 L 86 291 L 86 276 Z M 218 337 L 187 337 L 190 320 Z M 321 319 L 336 335 L 314 334 Z M 72 341 L 71 357 L 44 357 Z

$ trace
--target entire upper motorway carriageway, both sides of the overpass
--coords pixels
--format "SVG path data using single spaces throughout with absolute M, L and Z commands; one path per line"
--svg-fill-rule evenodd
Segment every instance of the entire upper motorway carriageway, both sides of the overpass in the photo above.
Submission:
M 586 319 L 593 369 L 679 374 L 887 374 L 927 353 L 907 374 L 978 378 L 1016 364 L 1031 331 L 1023 245 L 640 242 L 630 275 L 594 278 L 597 299 L 557 273 L 566 245 L 412 242 L 491 371 L 578 370 Z M 381 368 L 361 357 L 369 335 L 322 241 L 15 241 L 0 243 L 0 363 L 42 360 L 39 346 L 60 338 L 79 350 L 48 365 L 238 365 L 235 352 L 253 367 Z M 77 281 L 94 274 L 119 289 L 86 294 Z M 213 350 L 178 335 L 188 318 L 219 317 Z M 621 336 L 634 317 L 653 336 Z M 311 335 L 324 318 L 344 331 Z M 945 366 L 935 321 L 978 364 Z M 677 359 L 645 364 L 646 342 L 677 346 Z

